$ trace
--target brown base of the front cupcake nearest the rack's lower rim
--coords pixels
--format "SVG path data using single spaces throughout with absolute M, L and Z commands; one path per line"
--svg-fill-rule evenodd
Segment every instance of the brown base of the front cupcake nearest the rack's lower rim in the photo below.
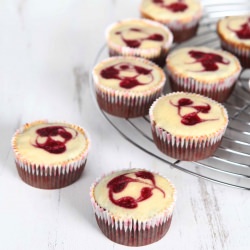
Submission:
M 204 145 L 201 141 L 197 145 L 188 144 L 187 147 L 181 147 L 164 142 L 154 130 L 152 130 L 152 135 L 155 145 L 162 153 L 181 161 L 199 161 L 208 158 L 214 154 L 221 143 L 221 140 L 219 140 L 213 145 Z

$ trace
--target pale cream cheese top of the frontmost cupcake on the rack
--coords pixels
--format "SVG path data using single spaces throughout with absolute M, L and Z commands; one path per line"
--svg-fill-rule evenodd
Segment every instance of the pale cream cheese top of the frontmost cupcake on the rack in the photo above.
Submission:
M 178 102 L 182 98 L 190 99 L 193 104 L 180 107 L 178 114 Z M 197 112 L 194 106 L 210 106 L 208 113 Z M 151 110 L 151 115 L 156 126 L 164 129 L 175 136 L 200 137 L 212 135 L 224 129 L 228 122 L 228 115 L 225 108 L 210 98 L 192 93 L 173 93 L 159 98 Z M 185 125 L 182 117 L 191 113 L 197 113 L 202 120 L 195 125 Z

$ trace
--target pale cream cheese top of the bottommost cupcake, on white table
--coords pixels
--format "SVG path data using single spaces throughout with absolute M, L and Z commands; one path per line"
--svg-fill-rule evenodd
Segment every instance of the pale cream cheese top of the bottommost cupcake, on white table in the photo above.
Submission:
M 157 214 L 164 212 L 169 209 L 172 212 L 173 205 L 175 202 L 175 189 L 173 185 L 164 177 L 153 174 L 155 179 L 155 186 L 164 192 L 162 193 L 159 189 L 153 188 L 152 182 L 149 179 L 139 178 L 135 175 L 138 170 L 122 170 L 115 172 L 111 175 L 107 175 L 102 178 L 94 188 L 93 196 L 97 204 L 103 209 L 110 212 L 115 218 L 119 219 L 134 219 L 144 221 L 150 219 Z M 109 198 L 109 188 L 107 184 L 115 177 L 126 174 L 126 177 L 139 180 L 139 182 L 129 183 L 122 192 L 114 195 L 115 199 L 123 197 L 132 197 L 137 199 L 140 197 L 141 190 L 145 187 L 153 188 L 152 196 L 141 202 L 138 202 L 136 208 L 124 208 L 115 205 Z M 171 214 L 171 213 L 170 213 Z

